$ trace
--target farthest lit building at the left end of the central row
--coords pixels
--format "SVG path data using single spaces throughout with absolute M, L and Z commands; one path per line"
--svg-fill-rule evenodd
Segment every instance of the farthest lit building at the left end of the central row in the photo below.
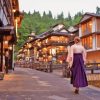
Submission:
M 38 40 L 38 37 L 36 37 L 33 32 L 28 36 L 25 43 L 22 45 L 20 50 L 17 54 L 17 65 L 19 63 L 19 66 L 21 67 L 28 67 L 28 63 L 31 64 L 31 61 L 34 62 L 34 50 L 35 50 L 35 43 Z M 34 44 L 34 45 L 33 45 Z

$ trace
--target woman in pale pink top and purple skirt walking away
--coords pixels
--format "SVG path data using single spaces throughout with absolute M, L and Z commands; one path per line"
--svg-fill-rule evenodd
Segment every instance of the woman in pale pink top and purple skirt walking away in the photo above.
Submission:
M 88 86 L 85 63 L 86 63 L 86 50 L 81 44 L 81 39 L 76 36 L 74 44 L 71 46 L 71 84 L 75 87 L 75 93 L 79 93 L 80 87 Z

